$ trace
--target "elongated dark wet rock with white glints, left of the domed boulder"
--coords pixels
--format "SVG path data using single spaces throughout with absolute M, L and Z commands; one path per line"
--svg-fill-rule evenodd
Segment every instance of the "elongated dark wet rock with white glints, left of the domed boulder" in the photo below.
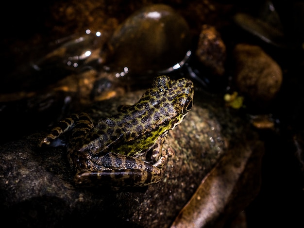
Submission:
M 97 35 L 98 34 L 98 35 Z M 96 68 L 99 63 L 99 51 L 108 41 L 106 32 L 86 30 L 83 34 L 73 34 L 46 45 L 48 53 L 38 54 L 16 67 L 11 73 L 0 79 L 1 93 L 17 91 L 37 91 L 60 81 L 68 75 Z

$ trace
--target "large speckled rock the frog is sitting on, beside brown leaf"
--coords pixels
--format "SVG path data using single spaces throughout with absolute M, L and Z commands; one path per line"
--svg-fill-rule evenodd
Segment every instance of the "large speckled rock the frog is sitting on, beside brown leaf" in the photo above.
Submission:
M 97 102 L 94 107 L 102 112 L 109 107 L 133 104 L 142 92 Z M 227 151 L 233 152 L 235 147 L 248 151 L 257 142 L 248 125 L 208 100 L 196 100 L 185 120 L 169 132 L 164 148 L 171 148 L 175 155 L 168 158 L 163 180 L 144 188 L 76 188 L 65 149 L 37 148 L 44 133 L 2 145 L 0 201 L 4 220 L 23 227 L 88 226 L 105 220 L 114 227 L 169 227 L 203 177 Z M 251 170 L 247 177 L 259 172 Z M 258 185 L 254 188 L 244 193 L 252 197 Z M 238 189 L 241 191 L 242 187 Z M 236 211 L 248 203 L 249 198 L 238 204 Z M 226 213 L 227 217 L 236 211 Z M 221 216 L 206 216 L 225 222 Z

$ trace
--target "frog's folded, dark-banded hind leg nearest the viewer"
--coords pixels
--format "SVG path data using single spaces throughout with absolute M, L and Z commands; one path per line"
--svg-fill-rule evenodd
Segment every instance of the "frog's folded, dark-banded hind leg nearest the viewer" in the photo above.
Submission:
M 161 180 L 161 170 L 140 159 L 108 153 L 90 159 L 90 170 L 78 172 L 75 183 L 111 186 L 146 186 Z

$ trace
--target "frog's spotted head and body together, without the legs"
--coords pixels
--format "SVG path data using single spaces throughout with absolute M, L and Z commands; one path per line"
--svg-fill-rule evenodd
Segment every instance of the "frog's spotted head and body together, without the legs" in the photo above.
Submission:
M 157 77 L 140 100 L 101 120 L 86 136 L 80 151 L 95 156 L 109 152 L 134 156 L 178 125 L 192 107 L 193 84 Z

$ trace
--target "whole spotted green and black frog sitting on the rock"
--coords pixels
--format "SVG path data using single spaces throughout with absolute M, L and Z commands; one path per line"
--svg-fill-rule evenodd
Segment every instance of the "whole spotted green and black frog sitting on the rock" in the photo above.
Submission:
M 194 85 L 186 78 L 154 78 L 134 105 L 94 126 L 89 114 L 71 114 L 44 137 L 39 147 L 52 146 L 68 134 L 68 161 L 78 186 L 141 187 L 158 183 L 170 152 L 163 151 L 169 130 L 179 125 L 193 106 Z M 147 155 L 148 159 L 140 159 Z M 150 155 L 151 154 L 151 155 Z

